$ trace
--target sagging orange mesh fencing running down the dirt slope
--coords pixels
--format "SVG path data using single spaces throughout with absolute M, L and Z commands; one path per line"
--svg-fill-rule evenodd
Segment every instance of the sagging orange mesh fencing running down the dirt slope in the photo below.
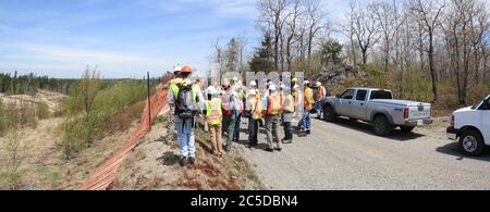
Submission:
M 82 186 L 82 190 L 107 190 L 110 189 L 114 182 L 115 174 L 119 166 L 124 161 L 125 157 L 133 151 L 138 145 L 138 141 L 151 130 L 151 121 L 158 113 L 167 105 L 168 83 L 172 79 L 171 75 L 167 75 L 162 80 L 162 89 L 158 89 L 145 107 L 142 122 L 138 129 L 133 134 L 132 138 L 124 144 L 124 146 L 115 152 L 112 158 L 107 161 L 102 167 L 99 169 Z

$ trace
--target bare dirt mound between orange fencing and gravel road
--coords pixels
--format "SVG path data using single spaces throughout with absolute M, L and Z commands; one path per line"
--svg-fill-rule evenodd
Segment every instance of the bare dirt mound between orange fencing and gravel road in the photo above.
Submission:
M 257 177 L 246 162 L 235 153 L 224 158 L 211 155 L 207 134 L 198 130 L 197 163 L 179 165 L 179 146 L 167 144 L 166 122 L 154 130 L 121 165 L 113 189 L 118 190 L 240 190 L 260 189 Z M 173 139 L 176 140 L 176 139 Z

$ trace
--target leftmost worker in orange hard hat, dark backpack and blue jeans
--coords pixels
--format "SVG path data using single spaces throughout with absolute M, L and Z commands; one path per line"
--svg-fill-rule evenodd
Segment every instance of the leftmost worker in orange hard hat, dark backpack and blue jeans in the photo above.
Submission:
M 189 79 L 193 68 L 188 65 L 182 66 L 180 76 L 175 78 L 168 96 L 168 103 L 174 109 L 175 129 L 180 142 L 180 164 L 185 166 L 196 162 L 196 147 L 194 136 L 194 124 L 196 114 L 199 112 L 198 104 L 204 101 L 198 97 L 198 91 L 193 87 Z

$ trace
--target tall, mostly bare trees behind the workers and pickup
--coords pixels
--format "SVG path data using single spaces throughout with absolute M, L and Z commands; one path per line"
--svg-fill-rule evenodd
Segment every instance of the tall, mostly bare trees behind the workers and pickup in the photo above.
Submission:
M 341 64 L 365 71 L 366 86 L 454 105 L 490 91 L 486 0 L 351 0 L 339 22 L 328 7 L 257 0 L 260 46 L 243 57 L 246 38 L 236 36 L 215 45 L 211 64 L 220 73 L 299 71 L 309 78 Z

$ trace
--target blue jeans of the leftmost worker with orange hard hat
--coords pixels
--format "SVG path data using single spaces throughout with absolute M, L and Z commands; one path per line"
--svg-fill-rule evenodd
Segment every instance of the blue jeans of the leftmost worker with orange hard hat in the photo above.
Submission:
M 196 146 L 194 137 L 194 121 L 183 121 L 175 119 L 175 129 L 179 136 L 181 147 L 181 158 L 196 158 Z

